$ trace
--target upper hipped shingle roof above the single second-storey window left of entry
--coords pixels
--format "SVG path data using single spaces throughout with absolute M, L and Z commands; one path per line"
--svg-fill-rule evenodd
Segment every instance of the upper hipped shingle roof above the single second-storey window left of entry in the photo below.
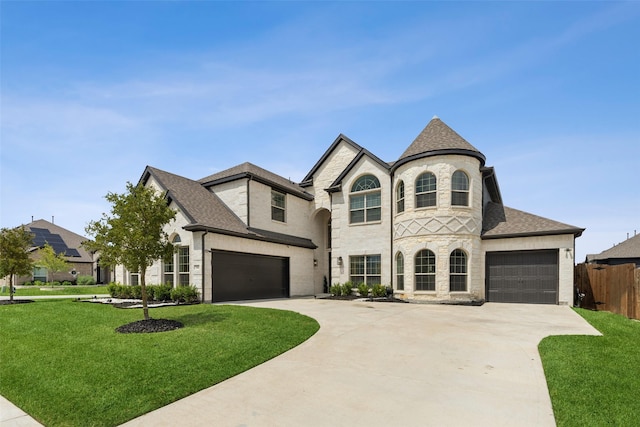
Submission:
M 292 182 L 287 178 L 283 178 L 280 175 L 276 175 L 273 172 L 269 172 L 266 169 L 262 169 L 261 167 L 258 167 L 249 162 L 245 162 L 232 168 L 215 173 L 213 175 L 209 175 L 205 178 L 199 179 L 198 182 L 205 187 L 210 187 L 212 185 L 222 184 L 224 182 L 235 181 L 237 179 L 243 178 L 250 178 L 265 185 L 278 188 L 286 193 L 291 193 L 303 199 L 313 200 L 313 195 L 305 191 L 295 182 Z

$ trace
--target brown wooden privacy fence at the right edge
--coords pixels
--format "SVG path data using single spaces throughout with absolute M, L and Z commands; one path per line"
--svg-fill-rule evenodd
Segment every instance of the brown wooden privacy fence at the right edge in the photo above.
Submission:
M 576 292 L 584 294 L 580 303 L 576 300 L 580 307 L 640 319 L 640 268 L 635 264 L 578 264 L 574 283 Z

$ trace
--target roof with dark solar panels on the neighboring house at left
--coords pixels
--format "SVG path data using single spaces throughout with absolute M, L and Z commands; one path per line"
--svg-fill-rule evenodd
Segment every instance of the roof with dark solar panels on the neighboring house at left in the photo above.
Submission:
M 93 262 L 91 253 L 82 246 L 82 242 L 89 240 L 86 237 L 44 219 L 38 219 L 26 224 L 24 227 L 36 234 L 36 236 L 34 236 L 33 250 L 40 249 L 44 247 L 45 243 L 48 243 L 54 248 L 56 253 L 67 252 L 65 251 L 66 247 L 71 249 L 71 251 L 68 251 L 69 254 L 79 255 L 65 256 L 65 259 L 69 262 Z M 51 238 L 52 241 L 48 241 L 49 238 Z M 60 244 L 61 242 L 62 245 Z

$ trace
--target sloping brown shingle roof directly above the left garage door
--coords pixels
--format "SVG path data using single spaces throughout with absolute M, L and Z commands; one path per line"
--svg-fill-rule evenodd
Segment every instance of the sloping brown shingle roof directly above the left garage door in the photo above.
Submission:
M 189 231 L 209 231 L 254 240 L 315 248 L 309 239 L 286 234 L 269 233 L 248 228 L 245 223 L 213 192 L 200 182 L 147 166 L 141 182 L 153 176 L 167 191 L 167 198 L 175 202 L 189 220 Z

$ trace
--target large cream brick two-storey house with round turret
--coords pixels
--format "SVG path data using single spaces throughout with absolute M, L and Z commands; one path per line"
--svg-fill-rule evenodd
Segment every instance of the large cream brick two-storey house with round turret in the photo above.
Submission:
M 339 135 L 300 183 L 250 163 L 197 181 L 147 167 L 140 183 L 177 211 L 178 251 L 149 283 L 192 284 L 204 301 L 351 281 L 408 300 L 573 302 L 584 229 L 504 206 L 484 155 L 438 118 L 392 163 Z

